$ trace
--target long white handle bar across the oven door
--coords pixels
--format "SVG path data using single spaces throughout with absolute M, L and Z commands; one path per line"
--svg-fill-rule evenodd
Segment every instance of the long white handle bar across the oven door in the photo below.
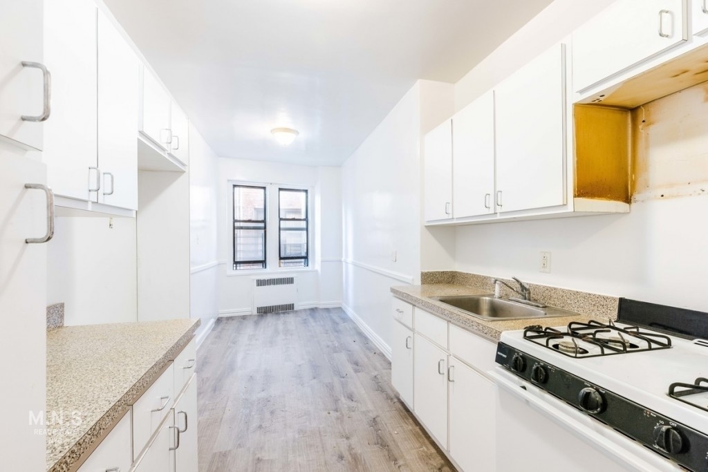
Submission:
M 576 436 L 586 439 L 588 442 L 594 444 L 596 448 L 605 451 L 606 455 L 624 464 L 624 466 L 629 466 L 636 472 L 669 470 L 657 468 L 656 464 L 650 464 L 644 461 L 644 459 L 633 454 L 632 451 L 618 444 L 624 440 L 631 442 L 631 445 L 627 444 L 629 447 L 634 446 L 644 449 L 639 443 L 635 444 L 632 439 L 628 439 L 615 431 L 612 431 L 612 433 L 617 434 L 617 441 L 604 437 L 602 434 L 598 434 L 593 427 L 584 424 L 583 420 L 591 420 L 593 423 L 596 422 L 597 426 L 600 427 L 607 426 L 593 418 L 588 418 L 585 413 L 581 413 L 570 405 L 566 405 L 566 403 L 555 398 L 550 393 L 542 391 L 529 382 L 518 379 L 517 376 L 510 374 L 503 369 L 503 367 L 495 367 L 493 370 L 487 372 L 487 374 L 496 382 L 499 388 L 503 388 L 513 393 L 513 395 L 518 396 L 518 398 L 525 401 L 531 408 L 544 413 L 544 415 L 547 415 L 569 432 L 576 434 Z M 513 378 L 513 380 L 510 380 L 509 377 Z M 650 452 L 650 454 L 654 453 Z M 659 457 L 656 459 L 658 460 Z M 670 470 L 675 469 L 672 468 Z

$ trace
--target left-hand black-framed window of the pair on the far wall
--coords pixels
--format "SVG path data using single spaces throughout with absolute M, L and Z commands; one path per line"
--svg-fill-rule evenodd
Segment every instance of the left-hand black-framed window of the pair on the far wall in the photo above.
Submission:
M 234 185 L 234 270 L 265 269 L 265 187 Z

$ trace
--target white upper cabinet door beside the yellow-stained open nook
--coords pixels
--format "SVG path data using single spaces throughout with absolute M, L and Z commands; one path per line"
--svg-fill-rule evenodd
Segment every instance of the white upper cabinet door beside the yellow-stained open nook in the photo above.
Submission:
M 565 202 L 564 53 L 552 47 L 495 90 L 498 212 Z

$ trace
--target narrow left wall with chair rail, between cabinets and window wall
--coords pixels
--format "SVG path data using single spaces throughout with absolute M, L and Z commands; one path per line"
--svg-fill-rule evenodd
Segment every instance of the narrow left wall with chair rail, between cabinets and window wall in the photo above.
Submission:
M 218 158 L 199 131 L 189 129 L 190 317 L 201 318 L 195 336 L 208 333 L 219 311 L 217 293 Z

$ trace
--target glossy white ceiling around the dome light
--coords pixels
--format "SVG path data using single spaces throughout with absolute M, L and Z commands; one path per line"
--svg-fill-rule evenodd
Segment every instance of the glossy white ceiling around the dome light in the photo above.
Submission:
M 416 79 L 457 81 L 551 3 L 104 1 L 219 156 L 331 166 Z

